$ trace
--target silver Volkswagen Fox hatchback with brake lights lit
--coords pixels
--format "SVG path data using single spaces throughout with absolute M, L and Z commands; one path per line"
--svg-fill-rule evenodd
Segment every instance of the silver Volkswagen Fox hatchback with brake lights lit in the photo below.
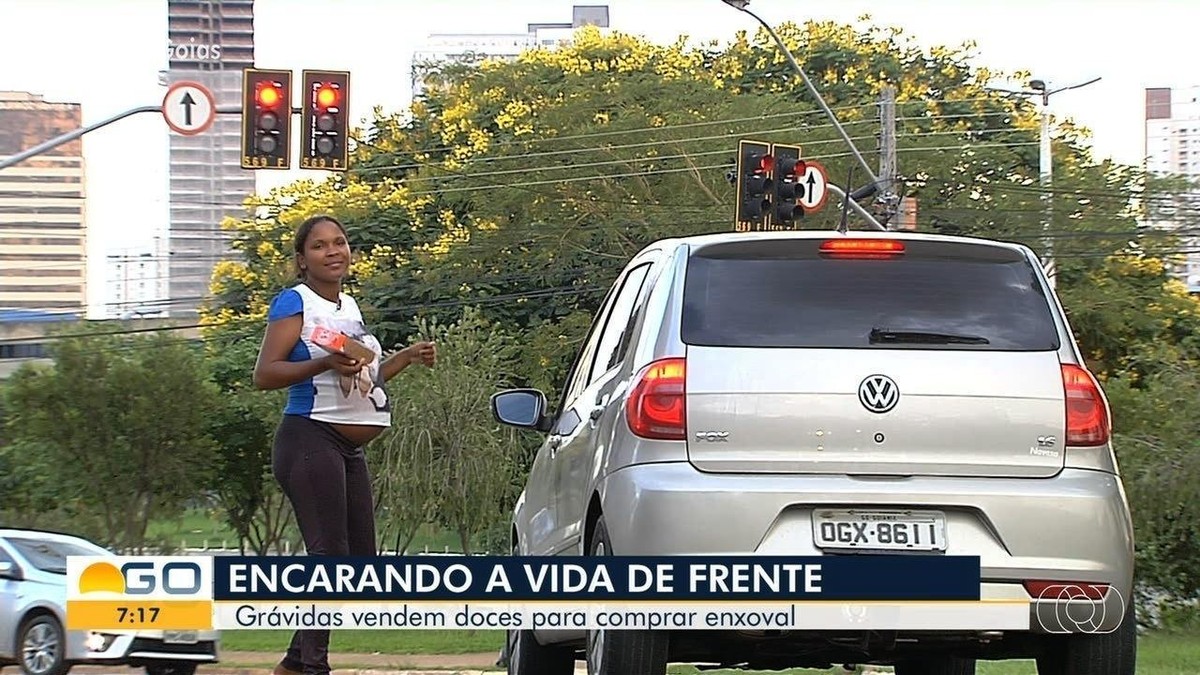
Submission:
M 1010 658 L 1134 673 L 1133 526 L 1108 401 L 1026 246 L 658 241 L 617 279 L 558 405 L 518 389 L 492 412 L 546 434 L 512 515 L 517 555 L 890 551 L 828 526 L 882 513 L 929 533 L 925 555 L 979 556 L 982 597 L 1031 611 L 1020 632 L 517 631 L 511 674 L 565 675 L 580 658 L 593 675 L 668 662 L 956 675 Z

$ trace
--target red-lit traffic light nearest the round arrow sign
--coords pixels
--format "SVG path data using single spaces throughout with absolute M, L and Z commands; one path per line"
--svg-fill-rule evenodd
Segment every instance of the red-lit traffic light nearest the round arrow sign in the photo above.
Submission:
M 241 168 L 292 168 L 292 71 L 241 71 Z

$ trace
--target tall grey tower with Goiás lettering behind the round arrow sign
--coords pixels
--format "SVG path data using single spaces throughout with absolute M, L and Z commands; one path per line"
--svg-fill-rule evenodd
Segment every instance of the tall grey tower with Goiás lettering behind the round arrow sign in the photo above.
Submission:
M 241 70 L 254 65 L 254 0 L 168 0 L 168 70 L 161 84 L 192 80 L 216 104 L 241 103 Z M 212 268 L 230 255 L 226 217 L 244 217 L 254 172 L 241 168 L 238 115 L 218 114 L 197 136 L 170 135 L 168 294 L 172 316 L 194 316 Z

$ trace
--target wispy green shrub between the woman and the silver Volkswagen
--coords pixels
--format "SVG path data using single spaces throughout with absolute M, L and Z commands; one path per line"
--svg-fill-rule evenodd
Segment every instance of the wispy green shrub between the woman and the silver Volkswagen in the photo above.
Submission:
M 506 543 L 523 458 L 514 456 L 515 432 L 492 419 L 490 399 L 509 384 L 512 340 L 475 310 L 448 324 L 419 321 L 415 333 L 437 342 L 438 364 L 397 378 L 394 425 L 376 442 L 382 538 L 403 551 L 433 522 L 456 532 L 463 552 Z

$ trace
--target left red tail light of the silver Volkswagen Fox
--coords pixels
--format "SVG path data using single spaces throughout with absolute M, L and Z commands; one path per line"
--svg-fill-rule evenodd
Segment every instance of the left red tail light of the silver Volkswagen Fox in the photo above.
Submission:
M 686 380 L 688 365 L 682 358 L 661 359 L 643 368 L 625 406 L 629 429 L 643 438 L 684 440 Z

